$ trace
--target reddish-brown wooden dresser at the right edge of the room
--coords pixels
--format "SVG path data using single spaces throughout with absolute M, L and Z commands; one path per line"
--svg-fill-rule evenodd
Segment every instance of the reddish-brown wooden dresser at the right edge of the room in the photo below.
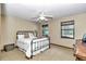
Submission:
M 86 43 L 83 42 L 82 39 L 76 40 L 74 51 L 76 60 L 86 61 Z

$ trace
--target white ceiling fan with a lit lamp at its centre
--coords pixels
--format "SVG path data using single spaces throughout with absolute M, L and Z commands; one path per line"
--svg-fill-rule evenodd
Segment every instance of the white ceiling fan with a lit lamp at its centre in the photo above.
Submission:
M 40 12 L 38 16 L 33 20 L 36 22 L 48 22 L 49 20 L 52 20 L 52 15 L 45 15 L 44 12 Z

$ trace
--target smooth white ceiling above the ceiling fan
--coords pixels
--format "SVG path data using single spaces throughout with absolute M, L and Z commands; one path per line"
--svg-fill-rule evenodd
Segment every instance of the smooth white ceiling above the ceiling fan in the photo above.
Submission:
M 53 18 L 74 15 L 86 12 L 86 3 L 54 3 L 54 4 L 5 4 L 5 14 L 32 21 L 39 12 L 52 15 Z

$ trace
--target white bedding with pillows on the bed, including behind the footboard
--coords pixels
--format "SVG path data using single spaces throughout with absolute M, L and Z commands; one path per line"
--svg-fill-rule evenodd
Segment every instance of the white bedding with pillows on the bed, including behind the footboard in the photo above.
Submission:
M 23 35 L 19 35 L 16 44 L 20 48 L 21 51 L 25 52 L 27 57 L 30 57 L 32 55 L 36 55 L 40 53 L 41 51 L 49 49 L 49 39 L 48 38 L 38 38 L 34 37 L 24 38 Z M 45 48 L 42 48 L 46 46 Z M 33 52 L 33 54 L 32 54 Z

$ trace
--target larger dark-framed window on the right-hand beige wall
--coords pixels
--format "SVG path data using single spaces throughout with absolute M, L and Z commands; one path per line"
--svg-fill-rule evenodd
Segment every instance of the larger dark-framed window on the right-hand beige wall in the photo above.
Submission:
M 74 21 L 61 22 L 61 38 L 74 39 Z

